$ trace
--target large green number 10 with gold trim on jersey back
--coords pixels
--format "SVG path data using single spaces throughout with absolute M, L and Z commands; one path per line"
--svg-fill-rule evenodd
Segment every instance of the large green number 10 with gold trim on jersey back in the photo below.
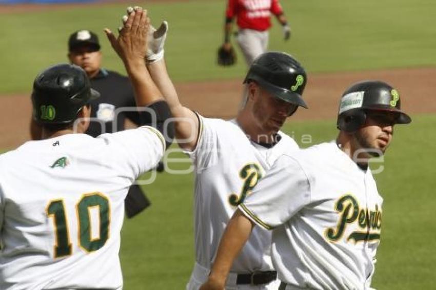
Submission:
M 91 210 L 98 212 L 98 237 L 92 237 Z M 71 255 L 71 242 L 68 231 L 64 200 L 52 200 L 47 206 L 47 216 L 53 218 L 55 229 L 54 257 Z M 101 193 L 82 196 L 76 204 L 78 224 L 78 244 L 87 252 L 94 252 L 109 239 L 110 206 L 109 200 Z

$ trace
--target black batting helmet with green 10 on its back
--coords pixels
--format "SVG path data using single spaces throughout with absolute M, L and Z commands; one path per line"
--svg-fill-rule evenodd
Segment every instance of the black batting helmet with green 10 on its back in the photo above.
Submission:
M 99 96 L 91 89 L 82 68 L 55 65 L 38 74 L 33 82 L 33 118 L 46 124 L 71 123 L 83 106 Z

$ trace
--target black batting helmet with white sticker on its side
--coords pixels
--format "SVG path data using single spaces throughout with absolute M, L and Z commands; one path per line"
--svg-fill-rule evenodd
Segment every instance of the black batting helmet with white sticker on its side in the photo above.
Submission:
M 367 111 L 385 111 L 396 114 L 395 123 L 408 124 L 412 119 L 401 111 L 397 90 L 378 80 L 356 82 L 341 98 L 338 112 L 338 129 L 346 132 L 359 130 L 366 121 Z

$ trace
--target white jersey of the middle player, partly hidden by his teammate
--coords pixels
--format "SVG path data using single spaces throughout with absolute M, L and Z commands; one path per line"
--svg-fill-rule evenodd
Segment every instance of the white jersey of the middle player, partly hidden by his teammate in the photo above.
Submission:
M 298 149 L 289 136 L 272 148 L 249 140 L 235 120 L 200 117 L 201 133 L 190 154 L 195 165 L 195 259 L 210 268 L 221 236 L 237 205 L 276 158 Z M 270 259 L 271 236 L 260 228 L 253 234 L 231 268 L 234 273 L 273 269 Z

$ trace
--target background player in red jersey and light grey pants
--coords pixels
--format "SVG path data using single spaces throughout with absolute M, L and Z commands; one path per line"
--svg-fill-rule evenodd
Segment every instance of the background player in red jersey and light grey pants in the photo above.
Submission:
M 247 65 L 250 66 L 258 55 L 267 51 L 271 14 L 279 20 L 283 27 L 284 39 L 288 40 L 291 29 L 279 0 L 228 0 L 223 48 L 227 51 L 232 49 L 230 35 L 233 18 L 236 17 L 239 29 L 237 43 Z

